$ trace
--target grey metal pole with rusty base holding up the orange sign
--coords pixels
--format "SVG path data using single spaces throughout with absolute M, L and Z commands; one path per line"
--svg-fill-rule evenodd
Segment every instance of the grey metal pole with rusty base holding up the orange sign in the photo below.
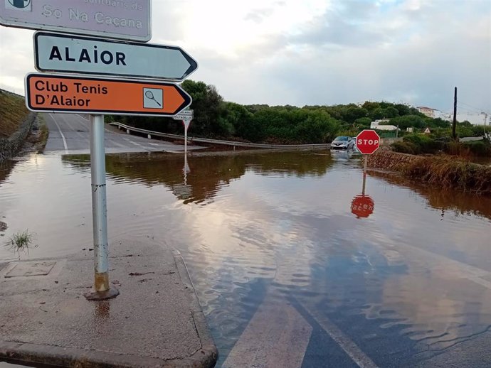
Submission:
M 90 301 L 115 298 L 119 291 L 109 287 L 109 249 L 107 244 L 106 167 L 104 116 L 90 115 L 90 177 L 94 234 L 94 292 Z

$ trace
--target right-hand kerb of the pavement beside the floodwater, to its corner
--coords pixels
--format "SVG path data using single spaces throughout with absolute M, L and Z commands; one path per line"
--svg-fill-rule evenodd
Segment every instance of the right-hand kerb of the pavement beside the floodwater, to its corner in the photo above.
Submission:
M 203 310 L 201 310 L 201 305 L 199 305 L 199 299 L 196 295 L 193 281 L 191 281 L 191 276 L 189 276 L 189 271 L 184 262 L 184 258 L 177 249 L 172 249 L 172 254 L 174 255 L 174 261 L 177 266 L 177 271 L 179 272 L 179 277 L 189 291 L 189 307 L 191 308 L 191 313 L 193 315 L 194 327 L 196 328 L 199 340 L 201 341 L 201 349 L 195 352 L 194 355 L 191 355 L 191 357 L 181 359 L 181 365 L 176 367 L 213 368 L 218 359 L 218 349 L 211 336 Z

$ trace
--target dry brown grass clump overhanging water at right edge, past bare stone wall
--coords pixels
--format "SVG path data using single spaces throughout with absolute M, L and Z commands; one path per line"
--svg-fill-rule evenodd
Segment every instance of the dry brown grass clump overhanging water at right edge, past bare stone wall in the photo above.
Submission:
M 491 167 L 455 157 L 424 157 L 406 164 L 402 171 L 413 180 L 423 180 L 443 189 L 491 195 Z

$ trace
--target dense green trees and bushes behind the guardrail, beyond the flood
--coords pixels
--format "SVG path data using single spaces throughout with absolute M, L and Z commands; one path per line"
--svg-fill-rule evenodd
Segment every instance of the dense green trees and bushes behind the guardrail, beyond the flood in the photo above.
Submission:
M 451 136 L 450 121 L 426 117 L 406 104 L 364 102 L 360 105 L 304 107 L 241 105 L 223 101 L 216 88 L 204 82 L 185 80 L 182 87 L 193 97 L 191 109 L 194 109 L 194 120 L 189 127 L 190 136 L 252 143 L 320 144 L 330 143 L 336 136 L 356 136 L 361 130 L 369 129 L 371 121 L 377 119 L 387 120 L 381 124 L 398 126 L 401 129 L 399 136 L 406 135 L 406 128 L 413 128 L 415 132 L 429 128 L 433 139 L 445 140 Z M 164 133 L 183 133 L 181 121 L 170 118 L 125 116 L 107 117 L 106 121 L 121 121 Z M 473 126 L 468 121 L 457 124 L 458 136 L 482 136 L 483 132 L 483 126 Z M 409 143 L 404 142 L 394 149 L 406 153 L 428 153 L 426 147 L 411 139 Z M 424 142 L 423 146 L 431 146 L 426 140 Z M 472 148 L 472 151 L 477 152 L 479 149 Z M 435 150 L 440 150 L 439 144 L 435 144 Z M 482 150 L 482 153 L 486 152 Z

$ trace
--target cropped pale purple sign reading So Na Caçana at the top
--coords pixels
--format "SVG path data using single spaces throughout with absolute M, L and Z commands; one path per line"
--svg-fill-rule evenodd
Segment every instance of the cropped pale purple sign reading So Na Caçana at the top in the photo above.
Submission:
M 0 24 L 106 38 L 152 38 L 150 0 L 0 0 Z

